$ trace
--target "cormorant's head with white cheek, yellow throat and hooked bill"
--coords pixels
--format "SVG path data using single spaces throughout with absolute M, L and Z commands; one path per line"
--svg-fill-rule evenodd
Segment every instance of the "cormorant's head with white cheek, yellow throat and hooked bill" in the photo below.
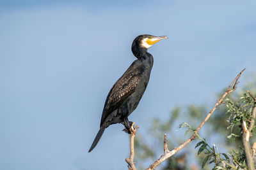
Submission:
M 139 58 L 141 53 L 147 52 L 147 49 L 160 41 L 161 39 L 167 39 L 168 36 L 151 36 L 143 34 L 136 37 L 132 42 L 132 53 Z

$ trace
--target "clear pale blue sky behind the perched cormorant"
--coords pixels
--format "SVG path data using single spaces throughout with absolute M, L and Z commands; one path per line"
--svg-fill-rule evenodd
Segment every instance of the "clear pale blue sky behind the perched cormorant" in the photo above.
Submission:
M 255 5 L 1 1 L 0 169 L 127 169 L 122 125 L 88 148 L 109 89 L 135 59 L 133 39 L 169 36 L 148 50 L 150 82 L 129 117 L 143 132 L 177 104 L 216 101 L 243 67 L 255 72 Z

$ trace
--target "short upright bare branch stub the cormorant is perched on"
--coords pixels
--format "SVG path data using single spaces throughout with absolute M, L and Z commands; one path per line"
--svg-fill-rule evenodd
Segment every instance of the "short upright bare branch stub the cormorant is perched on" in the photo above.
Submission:
M 130 140 L 130 157 L 129 158 L 125 158 L 125 161 L 128 164 L 129 170 L 136 170 L 136 167 L 134 165 L 133 159 L 134 159 L 134 137 L 136 134 L 137 129 L 139 128 L 138 125 L 136 125 L 135 129 L 134 129 L 134 122 L 132 124 L 132 127 L 130 129 L 131 132 L 131 140 Z

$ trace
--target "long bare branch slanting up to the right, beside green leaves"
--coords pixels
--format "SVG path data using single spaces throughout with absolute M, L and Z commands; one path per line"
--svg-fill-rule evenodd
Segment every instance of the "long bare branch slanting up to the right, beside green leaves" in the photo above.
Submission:
M 170 152 L 164 153 L 164 155 L 162 155 L 159 159 L 156 160 L 156 162 L 154 162 L 153 164 L 151 164 L 147 170 L 152 170 L 155 169 L 157 166 L 159 166 L 159 164 L 161 164 L 164 160 L 172 157 L 172 155 L 174 155 L 175 153 L 179 152 L 179 150 L 182 150 L 182 148 L 184 148 L 184 146 L 188 145 L 188 143 L 190 143 L 191 141 L 193 141 L 196 138 L 196 133 L 198 133 L 198 131 L 200 131 L 200 129 L 202 128 L 202 126 L 205 124 L 205 122 L 207 122 L 207 120 L 209 119 L 209 117 L 211 117 L 212 113 L 216 110 L 216 108 L 223 103 L 223 100 L 225 99 L 225 97 L 230 94 L 231 92 L 234 92 L 234 90 L 236 90 L 237 88 L 237 83 L 239 83 L 239 78 L 241 77 L 241 74 L 243 73 L 243 71 L 246 68 L 244 68 L 239 74 L 237 74 L 236 78 L 234 78 L 234 80 L 232 81 L 232 83 L 230 84 L 230 86 L 228 87 L 228 89 L 225 91 L 225 93 L 223 94 L 223 96 L 220 98 L 220 100 L 218 100 L 216 102 L 216 104 L 214 105 L 214 107 L 212 108 L 212 110 L 208 113 L 207 117 L 205 117 L 204 121 L 198 125 L 198 127 L 196 128 L 195 133 L 186 141 L 184 141 L 184 143 L 182 143 L 180 146 L 178 146 L 177 148 L 174 148 L 173 150 L 171 150 Z M 166 143 L 167 145 L 167 143 Z

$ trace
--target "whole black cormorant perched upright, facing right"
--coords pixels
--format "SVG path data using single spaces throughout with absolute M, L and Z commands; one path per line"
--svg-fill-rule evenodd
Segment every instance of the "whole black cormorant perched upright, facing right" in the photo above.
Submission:
M 102 111 L 100 130 L 89 152 L 95 148 L 104 130 L 109 125 L 124 124 L 125 131 L 129 132 L 132 122 L 129 122 L 128 116 L 137 108 L 147 87 L 153 66 L 153 56 L 147 52 L 147 49 L 154 43 L 166 38 L 168 37 L 144 34 L 134 39 L 132 53 L 138 59 L 132 62 L 127 71 L 111 88 Z

